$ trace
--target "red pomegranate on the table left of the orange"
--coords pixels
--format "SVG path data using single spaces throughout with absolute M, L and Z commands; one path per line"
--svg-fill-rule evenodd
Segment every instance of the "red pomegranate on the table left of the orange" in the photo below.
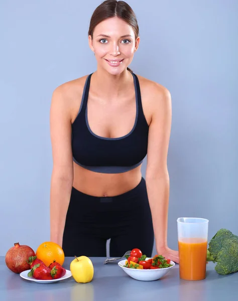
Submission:
M 7 267 L 14 273 L 21 273 L 30 269 L 27 260 L 30 256 L 35 256 L 33 249 L 27 245 L 20 245 L 19 242 L 14 244 L 6 254 L 5 262 Z

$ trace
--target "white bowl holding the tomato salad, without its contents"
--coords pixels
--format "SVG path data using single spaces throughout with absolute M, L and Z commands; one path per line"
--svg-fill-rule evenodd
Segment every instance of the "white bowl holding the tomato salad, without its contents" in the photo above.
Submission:
M 150 258 L 146 258 L 150 259 Z M 118 265 L 121 266 L 121 268 L 132 278 L 136 280 L 141 281 L 153 281 L 158 280 L 164 275 L 168 273 L 168 271 L 175 266 L 175 262 L 172 260 L 170 261 L 170 264 L 173 264 L 173 266 L 170 267 L 164 267 L 164 268 L 158 268 L 158 269 L 136 269 L 136 268 L 129 268 L 125 267 L 126 259 L 121 260 L 118 262 Z

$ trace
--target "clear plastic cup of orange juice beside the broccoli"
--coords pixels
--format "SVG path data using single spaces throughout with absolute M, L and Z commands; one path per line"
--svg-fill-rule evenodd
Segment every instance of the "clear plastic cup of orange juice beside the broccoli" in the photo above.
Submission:
M 206 277 L 208 222 L 197 217 L 177 219 L 181 279 L 202 280 Z

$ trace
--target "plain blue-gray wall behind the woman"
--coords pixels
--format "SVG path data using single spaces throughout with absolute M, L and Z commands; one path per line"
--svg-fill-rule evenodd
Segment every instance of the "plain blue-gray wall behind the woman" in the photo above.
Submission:
M 95 70 L 87 30 L 100 3 L 1 1 L 0 255 L 50 239 L 51 96 Z M 130 67 L 172 95 L 169 246 L 180 216 L 208 218 L 209 239 L 220 228 L 238 234 L 238 2 L 128 3 L 141 36 Z

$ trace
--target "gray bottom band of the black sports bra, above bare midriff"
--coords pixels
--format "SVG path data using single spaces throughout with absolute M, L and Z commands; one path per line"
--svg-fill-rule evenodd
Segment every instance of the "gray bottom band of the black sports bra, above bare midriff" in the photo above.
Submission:
M 78 164 L 79 166 L 95 173 L 102 173 L 102 174 L 119 174 L 119 173 L 126 173 L 134 168 L 138 167 L 142 164 L 143 160 L 133 166 L 86 166 L 82 165 L 77 162 L 74 158 L 73 161 Z

